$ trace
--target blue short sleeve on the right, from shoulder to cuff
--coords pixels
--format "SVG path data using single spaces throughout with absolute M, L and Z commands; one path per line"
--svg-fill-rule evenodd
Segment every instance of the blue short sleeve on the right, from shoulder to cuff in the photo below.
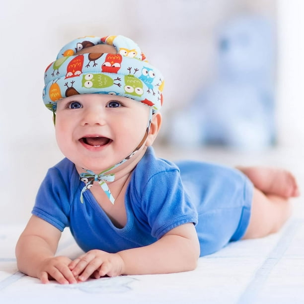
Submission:
M 149 155 L 151 153 L 151 155 Z M 197 211 L 184 191 L 179 169 L 168 161 L 146 153 L 136 168 L 134 188 L 141 212 L 157 239 L 186 223 L 197 223 Z M 142 220 L 143 221 L 143 220 Z

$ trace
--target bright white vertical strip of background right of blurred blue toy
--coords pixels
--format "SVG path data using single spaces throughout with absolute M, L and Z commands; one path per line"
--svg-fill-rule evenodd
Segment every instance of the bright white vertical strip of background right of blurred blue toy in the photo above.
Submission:
M 278 1 L 278 129 L 282 146 L 304 147 L 304 1 Z

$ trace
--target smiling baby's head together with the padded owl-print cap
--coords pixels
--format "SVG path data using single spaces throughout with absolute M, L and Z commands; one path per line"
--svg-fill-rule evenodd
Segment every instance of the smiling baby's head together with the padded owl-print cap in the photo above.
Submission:
M 82 37 L 60 50 L 45 71 L 43 101 L 54 115 L 57 110 L 57 143 L 79 173 L 116 174 L 136 165 L 161 125 L 158 111 L 163 83 L 162 75 L 146 61 L 139 46 L 124 36 Z M 105 111 L 113 102 L 114 111 Z M 115 110 L 120 102 L 123 106 L 118 109 L 125 111 Z M 67 111 L 74 109 L 72 104 L 87 110 Z M 105 129 L 101 128 L 101 113 L 106 113 Z M 98 117 L 98 123 L 92 123 L 93 117 Z

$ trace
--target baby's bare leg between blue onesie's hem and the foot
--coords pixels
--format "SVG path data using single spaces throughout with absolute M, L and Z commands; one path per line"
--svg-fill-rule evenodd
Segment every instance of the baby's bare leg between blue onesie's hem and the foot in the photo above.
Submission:
M 288 198 L 266 195 L 254 188 L 251 216 L 243 239 L 263 237 L 277 232 L 290 215 L 291 204 Z

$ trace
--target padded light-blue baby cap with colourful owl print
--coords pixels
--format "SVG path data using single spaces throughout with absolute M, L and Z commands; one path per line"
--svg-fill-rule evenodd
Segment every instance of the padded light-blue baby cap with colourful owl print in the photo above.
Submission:
M 117 54 L 76 54 L 86 47 L 108 44 Z M 148 63 L 140 47 L 124 36 L 85 36 L 65 45 L 45 71 L 43 101 L 56 102 L 76 94 L 112 94 L 143 102 L 156 113 L 162 105 L 163 76 Z

